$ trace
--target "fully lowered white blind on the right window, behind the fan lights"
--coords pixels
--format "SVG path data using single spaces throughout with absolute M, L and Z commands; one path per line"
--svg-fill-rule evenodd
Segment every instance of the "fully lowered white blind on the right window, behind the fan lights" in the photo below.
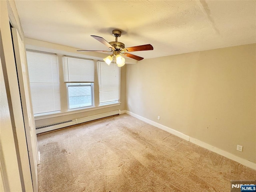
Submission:
M 116 64 L 108 66 L 105 62 L 98 62 L 100 104 L 120 100 L 120 72 Z

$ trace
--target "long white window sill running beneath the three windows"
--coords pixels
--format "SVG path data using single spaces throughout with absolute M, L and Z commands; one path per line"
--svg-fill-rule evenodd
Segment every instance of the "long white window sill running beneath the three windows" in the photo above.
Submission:
M 59 116 L 64 116 L 64 115 L 71 115 L 71 114 L 93 111 L 93 110 L 98 110 L 98 109 L 103 109 L 103 108 L 108 108 L 108 107 L 114 107 L 114 106 L 118 106 L 120 104 L 121 104 L 121 102 L 97 106 L 97 107 L 93 106 L 93 107 L 88 107 L 88 108 L 83 108 L 83 109 L 72 109 L 72 110 L 68 110 L 66 112 L 58 112 L 58 113 L 54 113 L 54 114 L 46 114 L 46 115 L 36 116 L 36 117 L 34 117 L 34 119 L 41 120 L 41 119 L 47 119 L 47 118 L 54 118 L 54 117 L 59 117 Z

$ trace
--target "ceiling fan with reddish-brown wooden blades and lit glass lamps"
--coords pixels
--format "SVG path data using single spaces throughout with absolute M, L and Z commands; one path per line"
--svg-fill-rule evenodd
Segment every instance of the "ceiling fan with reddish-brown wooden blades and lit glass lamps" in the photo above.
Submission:
M 121 56 L 124 55 L 126 57 L 130 57 L 133 58 L 135 60 L 142 60 L 144 59 L 143 57 L 140 56 L 136 56 L 133 54 L 130 54 L 128 52 L 132 52 L 132 51 L 146 51 L 146 50 L 153 50 L 153 46 L 150 44 L 146 44 L 146 45 L 139 45 L 139 46 L 134 46 L 134 47 L 128 47 L 125 48 L 124 44 L 122 42 L 118 42 L 117 38 L 121 36 L 121 31 L 120 30 L 113 30 L 112 31 L 113 36 L 116 37 L 115 41 L 112 42 L 107 42 L 104 38 L 99 37 L 99 36 L 95 36 L 95 35 L 91 35 L 94 39 L 98 40 L 99 42 L 101 42 L 102 44 L 106 45 L 110 51 L 104 51 L 104 50 L 77 50 L 77 51 L 99 51 L 99 52 L 113 52 L 113 54 L 111 54 L 110 56 L 107 56 L 106 58 L 104 58 L 103 60 L 110 65 L 110 63 L 112 62 L 113 59 L 115 59 L 116 64 L 118 67 L 122 67 L 124 66 L 124 62 L 125 59 Z

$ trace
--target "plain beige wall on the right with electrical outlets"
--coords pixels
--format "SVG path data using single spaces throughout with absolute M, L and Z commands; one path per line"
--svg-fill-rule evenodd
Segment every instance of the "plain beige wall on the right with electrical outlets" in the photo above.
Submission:
M 256 44 L 128 65 L 126 99 L 130 112 L 256 163 Z

